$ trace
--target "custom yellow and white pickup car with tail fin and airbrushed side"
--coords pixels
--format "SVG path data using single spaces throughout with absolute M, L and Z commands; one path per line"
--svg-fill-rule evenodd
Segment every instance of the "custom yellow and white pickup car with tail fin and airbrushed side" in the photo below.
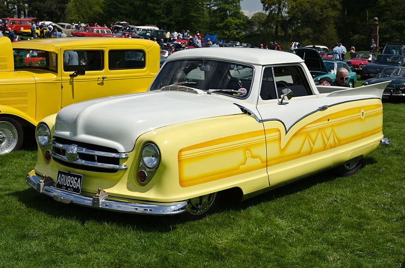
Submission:
M 199 217 L 225 190 L 249 197 L 331 167 L 356 172 L 383 139 L 387 83 L 316 87 L 285 52 L 177 52 L 148 92 L 43 119 L 26 182 L 64 203 Z

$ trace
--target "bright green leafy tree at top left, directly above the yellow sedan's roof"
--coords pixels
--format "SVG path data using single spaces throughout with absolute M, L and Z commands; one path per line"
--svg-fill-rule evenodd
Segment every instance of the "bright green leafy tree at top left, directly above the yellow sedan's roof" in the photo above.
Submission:
M 103 0 L 70 0 L 67 4 L 69 22 L 99 22 L 103 13 Z

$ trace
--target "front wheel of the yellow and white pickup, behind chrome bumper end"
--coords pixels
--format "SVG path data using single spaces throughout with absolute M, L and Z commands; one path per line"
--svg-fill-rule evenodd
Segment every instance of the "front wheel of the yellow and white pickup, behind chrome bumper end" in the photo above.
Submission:
M 218 207 L 220 193 L 211 193 L 187 200 L 187 211 L 179 216 L 183 219 L 194 220 L 207 216 Z

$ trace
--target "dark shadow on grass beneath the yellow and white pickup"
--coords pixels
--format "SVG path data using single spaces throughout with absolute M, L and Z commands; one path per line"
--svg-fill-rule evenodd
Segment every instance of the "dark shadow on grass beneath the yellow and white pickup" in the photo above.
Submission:
M 377 161 L 371 157 L 367 157 L 363 161 L 363 165 L 375 163 L 377 163 Z M 333 181 L 337 177 L 338 176 L 335 175 L 335 172 L 331 172 L 330 170 L 309 176 L 290 185 L 273 189 L 267 193 L 258 195 L 241 203 L 237 202 L 236 199 L 232 200 L 234 202 L 229 202 L 231 199 L 227 199 L 228 202 L 223 202 L 215 213 L 246 209 L 252 205 L 258 205 L 264 202 L 293 195 L 305 189 L 311 188 L 314 185 Z M 115 224 L 145 232 L 170 232 L 176 229 L 177 225 L 181 225 L 183 222 L 187 221 L 177 216 L 136 215 L 105 211 L 74 204 L 66 205 L 56 202 L 51 197 L 44 194 L 39 194 L 31 188 L 13 192 L 8 195 L 16 197 L 18 201 L 24 204 L 27 208 L 44 212 L 56 218 L 80 221 L 82 225 L 89 221 L 97 221 L 102 224 Z

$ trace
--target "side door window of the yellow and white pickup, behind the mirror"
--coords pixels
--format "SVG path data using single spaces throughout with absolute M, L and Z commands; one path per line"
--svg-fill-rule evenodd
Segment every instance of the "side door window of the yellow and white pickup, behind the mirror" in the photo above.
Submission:
M 290 88 L 294 97 L 312 95 L 307 78 L 299 66 L 273 67 L 278 96 L 284 88 Z

